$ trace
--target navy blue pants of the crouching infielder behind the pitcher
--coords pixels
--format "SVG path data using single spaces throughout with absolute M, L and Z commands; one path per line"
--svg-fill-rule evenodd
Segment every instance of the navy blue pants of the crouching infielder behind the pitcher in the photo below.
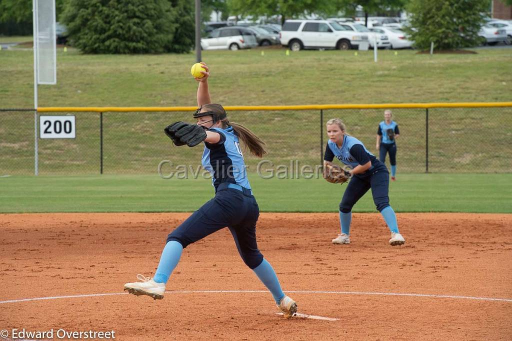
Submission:
M 355 175 L 349 182 L 339 210 L 348 213 L 362 196 L 372 189 L 372 197 L 377 210 L 380 212 L 389 206 L 389 172 L 386 166 L 379 162 L 368 174 Z

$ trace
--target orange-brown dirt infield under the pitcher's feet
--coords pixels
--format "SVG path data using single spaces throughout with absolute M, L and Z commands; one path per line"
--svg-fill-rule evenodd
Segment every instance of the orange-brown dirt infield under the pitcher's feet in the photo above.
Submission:
M 167 233 L 187 216 L 0 215 L 0 329 L 114 330 L 120 340 L 512 339 L 510 215 L 398 214 L 407 243 L 392 247 L 378 214 L 353 215 L 350 245 L 331 244 L 337 214 L 262 214 L 260 249 L 298 312 L 337 321 L 276 315 L 227 229 L 184 250 L 163 300 L 123 294 L 137 273 L 153 275 Z M 113 294 L 16 302 L 103 293 Z

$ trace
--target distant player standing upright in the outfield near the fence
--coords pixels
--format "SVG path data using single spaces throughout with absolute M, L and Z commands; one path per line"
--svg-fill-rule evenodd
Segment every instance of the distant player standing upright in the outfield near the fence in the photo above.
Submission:
M 395 181 L 396 175 L 396 138 L 400 136 L 398 124 L 392 120 L 391 110 L 384 112 L 384 120 L 377 128 L 377 143 L 375 147 L 379 151 L 379 161 L 385 163 L 386 154 L 389 153 L 391 164 L 391 180 Z

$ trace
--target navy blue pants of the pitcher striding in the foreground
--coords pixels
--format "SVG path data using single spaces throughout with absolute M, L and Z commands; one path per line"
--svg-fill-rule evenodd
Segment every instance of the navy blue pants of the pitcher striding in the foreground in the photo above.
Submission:
M 195 211 L 167 236 L 167 242 L 175 240 L 183 248 L 228 227 L 238 252 L 251 269 L 263 262 L 263 254 L 256 242 L 256 222 L 260 208 L 254 196 L 233 188 L 221 188 L 215 197 Z

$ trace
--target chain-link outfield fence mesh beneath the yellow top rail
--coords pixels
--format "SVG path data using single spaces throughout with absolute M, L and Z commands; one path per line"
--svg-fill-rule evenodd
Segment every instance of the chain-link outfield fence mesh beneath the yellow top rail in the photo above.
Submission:
M 392 109 L 400 129 L 397 168 L 403 173 L 509 173 L 512 161 L 512 108 Z M 267 144 L 266 168 L 322 163 L 325 123 L 341 118 L 347 133 L 378 156 L 377 127 L 383 109 L 231 111 L 232 122 L 247 126 Z M 38 113 L 47 115 L 46 113 Z M 183 167 L 197 170 L 203 148 L 176 147 L 163 132 L 175 121 L 194 122 L 191 112 L 67 112 L 74 115 L 74 139 L 38 139 L 40 175 L 162 174 Z M 262 159 L 244 153 L 248 172 Z M 389 157 L 386 160 L 389 166 Z M 180 168 L 181 167 L 181 168 Z M 183 171 L 184 172 L 184 171 Z M 34 112 L 0 112 L 0 176 L 34 174 Z

